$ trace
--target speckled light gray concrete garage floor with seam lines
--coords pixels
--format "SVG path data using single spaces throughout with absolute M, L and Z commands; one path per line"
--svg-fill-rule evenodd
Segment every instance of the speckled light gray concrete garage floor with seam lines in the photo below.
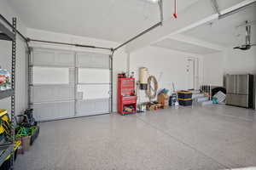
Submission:
M 18 170 L 256 167 L 255 111 L 226 105 L 44 122 Z

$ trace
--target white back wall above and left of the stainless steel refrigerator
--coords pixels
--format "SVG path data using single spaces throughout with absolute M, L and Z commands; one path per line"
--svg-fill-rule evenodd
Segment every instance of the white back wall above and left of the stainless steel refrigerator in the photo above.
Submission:
M 221 53 L 204 55 L 205 84 L 223 86 L 225 74 L 256 74 L 256 48 L 247 51 L 225 48 Z

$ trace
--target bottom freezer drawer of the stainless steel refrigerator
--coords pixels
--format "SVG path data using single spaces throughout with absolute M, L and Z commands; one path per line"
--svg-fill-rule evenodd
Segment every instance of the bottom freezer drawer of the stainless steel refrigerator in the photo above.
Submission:
M 248 95 L 227 94 L 226 104 L 248 107 Z

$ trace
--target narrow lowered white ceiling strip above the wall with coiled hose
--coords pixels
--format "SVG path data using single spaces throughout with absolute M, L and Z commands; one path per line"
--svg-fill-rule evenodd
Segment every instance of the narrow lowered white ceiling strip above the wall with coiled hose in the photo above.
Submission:
M 178 41 L 171 38 L 166 38 L 160 42 L 156 42 L 153 44 L 153 46 L 160 48 L 169 48 L 172 50 L 182 51 L 190 54 L 212 54 L 219 52 L 216 49 L 206 48 L 195 45 L 193 43 Z

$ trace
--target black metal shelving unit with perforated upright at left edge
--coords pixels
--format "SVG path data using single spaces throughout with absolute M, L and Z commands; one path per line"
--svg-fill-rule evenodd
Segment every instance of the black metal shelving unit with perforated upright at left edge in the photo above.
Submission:
M 2 22 L 3 21 L 3 22 Z M 9 29 L 6 20 L 0 20 L 0 41 L 12 42 L 11 54 L 11 89 L 0 91 L 0 100 L 11 98 L 11 140 L 0 144 L 0 166 L 10 156 L 11 167 L 14 169 L 14 142 L 15 142 L 15 67 L 16 67 L 16 18 L 13 18 L 12 27 Z

